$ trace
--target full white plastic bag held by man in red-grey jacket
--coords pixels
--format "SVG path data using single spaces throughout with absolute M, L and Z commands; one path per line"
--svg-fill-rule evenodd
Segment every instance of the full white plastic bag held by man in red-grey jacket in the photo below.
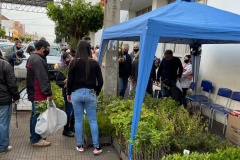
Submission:
M 56 108 L 53 101 L 49 101 L 48 109 L 38 117 L 35 132 L 46 137 L 55 134 L 66 124 L 66 113 Z

